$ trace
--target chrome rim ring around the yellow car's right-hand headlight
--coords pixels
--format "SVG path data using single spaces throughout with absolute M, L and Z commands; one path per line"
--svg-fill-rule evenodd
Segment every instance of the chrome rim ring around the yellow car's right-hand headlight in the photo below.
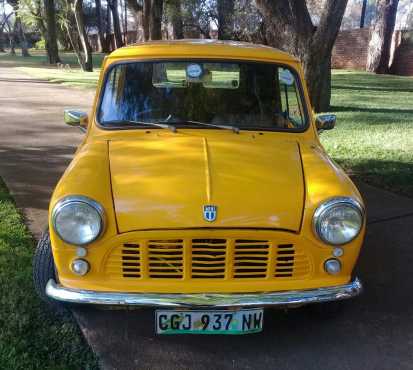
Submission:
M 357 234 L 355 234 L 351 239 L 347 240 L 344 243 L 332 243 L 329 240 L 326 240 L 323 235 L 320 232 L 320 220 L 321 216 L 326 212 L 327 210 L 340 205 L 340 204 L 345 204 L 346 206 L 350 206 L 351 208 L 355 209 L 359 214 L 360 218 L 362 220 L 360 229 L 358 230 Z M 363 229 L 364 222 L 365 222 L 365 210 L 363 205 L 356 199 L 351 198 L 351 197 L 334 197 L 330 198 L 324 202 L 322 202 L 315 210 L 314 215 L 313 215 L 313 232 L 317 236 L 318 239 L 320 239 L 323 243 L 326 243 L 330 246 L 342 246 L 351 243 L 354 239 L 356 239 L 360 233 L 361 230 Z

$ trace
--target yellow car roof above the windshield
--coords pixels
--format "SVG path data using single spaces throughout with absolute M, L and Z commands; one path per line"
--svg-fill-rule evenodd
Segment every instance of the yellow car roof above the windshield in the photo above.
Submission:
M 159 40 L 116 49 L 109 58 L 226 58 L 297 62 L 281 50 L 259 44 L 213 39 Z

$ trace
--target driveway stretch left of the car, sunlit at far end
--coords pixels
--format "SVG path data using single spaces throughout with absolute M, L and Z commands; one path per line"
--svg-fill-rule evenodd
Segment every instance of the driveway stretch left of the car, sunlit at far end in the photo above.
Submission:
M 82 140 L 63 109 L 88 110 L 94 94 L 50 84 L 0 65 L 0 177 L 38 236 L 52 189 Z

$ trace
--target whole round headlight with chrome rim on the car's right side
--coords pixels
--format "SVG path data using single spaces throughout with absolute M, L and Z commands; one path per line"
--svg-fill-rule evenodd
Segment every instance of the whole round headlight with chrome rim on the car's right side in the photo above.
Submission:
M 363 226 L 364 211 L 352 198 L 333 198 L 321 204 L 314 213 L 316 235 L 325 243 L 341 245 L 351 242 Z

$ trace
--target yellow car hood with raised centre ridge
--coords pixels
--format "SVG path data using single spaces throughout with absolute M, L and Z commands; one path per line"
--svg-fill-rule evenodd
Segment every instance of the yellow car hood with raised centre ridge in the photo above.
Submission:
M 109 160 L 120 232 L 300 228 L 304 181 L 293 140 L 148 134 L 110 141 Z M 216 206 L 214 221 L 206 205 Z

